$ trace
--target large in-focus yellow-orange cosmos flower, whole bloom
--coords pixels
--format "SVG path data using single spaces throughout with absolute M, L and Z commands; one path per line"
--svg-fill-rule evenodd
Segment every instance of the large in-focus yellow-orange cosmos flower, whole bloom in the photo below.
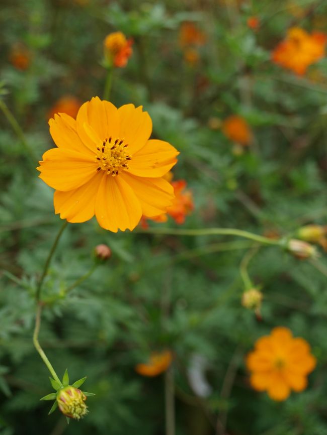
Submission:
M 133 230 L 142 214 L 166 212 L 174 199 L 163 179 L 179 152 L 149 140 L 151 118 L 142 107 L 119 108 L 98 97 L 84 103 L 76 121 L 66 114 L 49 121 L 57 145 L 43 154 L 40 178 L 56 189 L 61 219 L 85 222 L 96 215 L 107 230 Z

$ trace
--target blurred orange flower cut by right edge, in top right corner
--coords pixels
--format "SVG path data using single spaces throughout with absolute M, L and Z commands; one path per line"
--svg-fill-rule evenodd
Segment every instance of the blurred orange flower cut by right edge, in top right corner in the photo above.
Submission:
M 323 33 L 313 32 L 310 35 L 299 27 L 292 27 L 286 39 L 273 51 L 272 60 L 303 75 L 309 65 L 324 57 L 326 41 L 327 36 Z

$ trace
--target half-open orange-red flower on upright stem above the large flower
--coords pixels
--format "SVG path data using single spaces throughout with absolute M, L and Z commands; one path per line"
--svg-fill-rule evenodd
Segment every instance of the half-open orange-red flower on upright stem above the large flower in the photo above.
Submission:
M 106 59 L 119 68 L 126 66 L 133 53 L 132 44 L 133 40 L 126 39 L 122 32 L 110 33 L 104 40 Z

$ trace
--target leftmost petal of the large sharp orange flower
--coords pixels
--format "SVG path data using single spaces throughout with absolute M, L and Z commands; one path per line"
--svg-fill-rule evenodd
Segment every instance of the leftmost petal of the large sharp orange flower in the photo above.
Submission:
M 92 157 L 63 148 L 52 148 L 44 153 L 40 165 L 37 168 L 41 172 L 39 177 L 63 192 L 85 184 L 97 171 Z

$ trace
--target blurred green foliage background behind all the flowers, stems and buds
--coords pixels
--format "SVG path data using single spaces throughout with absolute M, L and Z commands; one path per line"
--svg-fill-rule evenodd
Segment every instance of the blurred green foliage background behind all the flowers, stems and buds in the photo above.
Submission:
M 259 18 L 258 30 L 248 27 L 251 16 Z M 195 63 L 180 43 L 184 22 L 206 36 Z M 135 372 L 152 350 L 170 348 L 177 435 L 325 435 L 322 248 L 318 259 L 304 261 L 276 247 L 258 250 L 249 273 L 264 294 L 259 318 L 241 305 L 239 265 L 256 246 L 251 241 L 139 228 L 113 234 L 95 219 L 68 225 L 43 288 L 40 342 L 60 377 L 68 367 L 74 380 L 88 376 L 85 389 L 96 393 L 87 400 L 89 414 L 69 426 L 58 411 L 47 415 L 50 402 L 40 402 L 49 373 L 32 335 L 37 282 L 60 227 L 34 155 L 41 159 L 53 147 L 47 121 L 59 97 L 102 96 L 110 32 L 134 40 L 128 65 L 114 71 L 111 101 L 143 105 L 152 137 L 181 152 L 174 179 L 187 181 L 195 201 L 183 228 L 288 236 L 326 224 L 327 59 L 301 77 L 271 62 L 289 27 L 326 30 L 326 2 L 3 0 L 0 25 L 0 98 L 27 144 L 1 112 L 0 433 L 173 435 L 165 431 L 167 375 Z M 11 61 L 18 46 L 27 53 L 26 69 Z M 240 153 L 220 128 L 232 114 L 253 131 Z M 173 220 L 167 226 L 178 227 Z M 66 292 L 93 266 L 102 243 L 111 259 Z M 244 364 L 276 325 L 307 340 L 317 358 L 308 388 L 281 403 L 251 388 Z M 199 356 L 210 387 L 205 396 L 190 375 Z

